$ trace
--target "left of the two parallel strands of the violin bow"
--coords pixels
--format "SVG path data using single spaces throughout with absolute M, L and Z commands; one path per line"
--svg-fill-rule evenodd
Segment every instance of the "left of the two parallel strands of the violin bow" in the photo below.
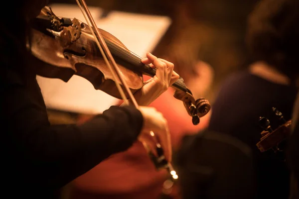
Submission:
M 80 8 L 82 14 L 84 15 L 85 20 L 86 20 L 87 23 L 88 23 L 88 26 L 90 27 L 90 31 L 92 32 L 92 34 L 93 34 L 93 36 L 94 36 L 94 38 L 95 38 L 95 41 L 97 42 L 97 45 L 98 45 L 98 47 L 99 47 L 99 49 L 100 49 L 100 51 L 101 51 L 101 54 L 102 54 L 102 56 L 103 56 L 103 58 L 104 58 L 104 60 L 105 60 L 105 63 L 106 63 L 107 66 L 109 67 L 109 69 L 110 69 L 110 71 L 111 71 L 111 73 L 112 73 L 112 75 L 113 75 L 113 78 L 114 78 L 115 80 L 117 80 L 116 74 L 115 74 L 114 70 L 112 69 L 112 67 L 111 67 L 111 65 L 110 65 L 110 63 L 109 63 L 109 61 L 108 61 L 108 59 L 107 59 L 107 57 L 106 57 L 106 54 L 105 54 L 104 51 L 103 51 L 102 46 L 100 45 L 98 39 L 96 39 L 97 37 L 96 37 L 94 31 L 92 30 L 92 26 L 91 26 L 90 21 L 88 20 L 88 18 L 87 18 L 87 16 L 86 16 L 86 13 L 84 12 L 84 10 L 83 10 L 81 4 L 79 3 L 79 1 L 78 1 L 78 0 L 76 0 L 76 1 L 77 1 L 77 3 L 78 3 L 78 6 L 79 6 L 79 8 Z M 120 94 L 121 94 L 122 99 L 124 100 L 124 102 L 125 102 L 126 104 L 129 104 L 129 101 L 128 101 L 128 99 L 127 99 L 125 93 L 124 93 L 124 90 L 121 88 L 121 86 L 120 86 L 120 84 L 118 83 L 118 81 L 114 81 L 114 82 L 115 82 L 116 87 L 118 88 L 118 90 L 119 90 L 119 92 L 120 92 Z

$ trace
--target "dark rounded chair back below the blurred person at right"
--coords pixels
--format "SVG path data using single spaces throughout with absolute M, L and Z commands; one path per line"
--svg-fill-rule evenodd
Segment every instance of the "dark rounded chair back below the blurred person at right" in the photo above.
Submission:
M 176 157 L 182 199 L 253 199 L 250 147 L 223 133 L 185 136 Z

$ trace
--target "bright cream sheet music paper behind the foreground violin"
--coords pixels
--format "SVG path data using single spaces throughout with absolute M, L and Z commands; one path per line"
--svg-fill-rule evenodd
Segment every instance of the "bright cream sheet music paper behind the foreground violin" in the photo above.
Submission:
M 56 3 L 50 7 L 56 16 L 86 22 L 77 5 Z M 100 18 L 101 8 L 89 6 L 89 10 L 98 28 L 110 32 L 141 57 L 153 50 L 171 23 L 167 16 L 112 11 L 106 18 Z M 48 108 L 97 114 L 118 102 L 118 99 L 95 90 L 90 82 L 79 76 L 73 76 L 67 83 L 37 76 L 37 82 Z

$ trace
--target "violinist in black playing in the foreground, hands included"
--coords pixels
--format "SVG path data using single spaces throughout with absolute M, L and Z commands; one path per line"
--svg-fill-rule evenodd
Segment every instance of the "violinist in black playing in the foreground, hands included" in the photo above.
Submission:
M 38 65 L 26 48 L 32 19 L 47 3 L 10 0 L 9 16 L 1 12 L 1 194 L 54 198 L 59 188 L 111 154 L 127 150 L 149 130 L 156 133 L 171 161 L 167 122 L 151 107 L 112 106 L 81 125 L 49 124 L 36 82 Z M 157 71 L 138 94 L 141 105 L 155 100 L 178 79 L 170 62 L 151 54 L 143 62 L 152 63 Z

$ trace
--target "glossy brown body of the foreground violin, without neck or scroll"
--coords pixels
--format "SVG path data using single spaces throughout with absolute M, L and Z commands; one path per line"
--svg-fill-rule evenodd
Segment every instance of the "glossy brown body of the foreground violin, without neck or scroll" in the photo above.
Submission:
M 54 28 L 53 22 L 46 23 L 48 20 L 57 22 Z M 45 66 L 38 68 L 38 75 L 58 78 L 64 82 L 68 82 L 73 75 L 78 75 L 88 80 L 96 90 L 121 99 L 114 81 L 118 81 L 119 84 L 121 82 L 113 78 L 87 24 L 80 23 L 77 19 L 73 19 L 71 23 L 68 20 L 66 24 L 63 24 L 51 8 L 46 6 L 42 9 L 35 26 L 38 29 L 32 30 L 31 52 L 36 58 L 46 63 Z M 54 31 L 49 32 L 47 30 L 49 28 Z M 113 39 L 121 47 L 127 49 L 116 37 L 102 29 L 99 30 L 104 37 Z M 113 51 L 111 53 L 115 54 Z M 141 72 L 133 72 L 120 64 L 118 66 L 133 94 L 142 88 Z

